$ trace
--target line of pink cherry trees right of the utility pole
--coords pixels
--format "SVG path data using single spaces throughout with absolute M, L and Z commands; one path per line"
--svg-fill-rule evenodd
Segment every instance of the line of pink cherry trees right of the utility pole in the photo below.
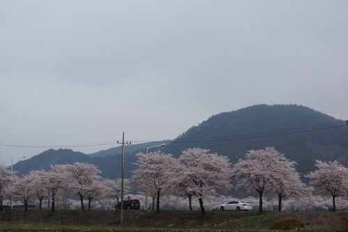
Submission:
M 335 198 L 348 195 L 348 169 L 337 161 L 317 160 L 317 170 L 306 176 L 312 180 L 307 187 L 296 172 L 296 162 L 287 159 L 274 147 L 249 150 L 233 166 L 228 157 L 200 148 L 184 150 L 178 159 L 159 151 L 148 155 L 138 153 L 136 156 L 138 162 L 134 164 L 138 169 L 134 171 L 132 180 L 137 187 L 148 190 L 152 199 L 157 199 L 157 212 L 159 196 L 177 192 L 189 198 L 190 210 L 191 198 L 195 196 L 201 212 L 205 214 L 203 199 L 216 194 L 217 189 L 229 190 L 232 187 L 231 178 L 237 179 L 237 190 L 244 188 L 248 192 L 258 192 L 260 212 L 263 211 L 264 194 L 278 199 L 279 211 L 285 196 L 299 200 L 308 199 L 314 191 L 324 196 L 329 194 L 335 211 Z

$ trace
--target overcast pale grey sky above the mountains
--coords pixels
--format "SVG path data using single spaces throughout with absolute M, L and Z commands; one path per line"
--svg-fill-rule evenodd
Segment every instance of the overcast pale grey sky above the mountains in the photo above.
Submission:
M 0 0 L 0 157 L 174 139 L 223 111 L 348 118 L 348 1 Z M 104 144 L 104 145 L 101 145 Z

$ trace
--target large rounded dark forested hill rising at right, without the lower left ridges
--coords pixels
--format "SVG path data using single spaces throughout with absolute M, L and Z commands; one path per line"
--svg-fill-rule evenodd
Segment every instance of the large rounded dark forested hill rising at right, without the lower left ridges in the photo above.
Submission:
M 347 139 L 345 121 L 319 111 L 299 105 L 254 105 L 211 116 L 163 151 L 178 156 L 187 148 L 207 148 L 237 162 L 248 150 L 274 146 L 307 173 L 314 169 L 315 160 L 348 165 Z

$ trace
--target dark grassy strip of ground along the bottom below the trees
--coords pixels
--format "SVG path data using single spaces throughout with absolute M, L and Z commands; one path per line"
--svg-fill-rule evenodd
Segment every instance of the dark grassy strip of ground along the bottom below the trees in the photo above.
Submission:
M 348 212 L 228 212 L 125 210 L 3 210 L 0 231 L 270 231 L 278 219 L 296 217 L 306 231 L 348 231 Z M 294 231 L 294 230 L 293 230 Z

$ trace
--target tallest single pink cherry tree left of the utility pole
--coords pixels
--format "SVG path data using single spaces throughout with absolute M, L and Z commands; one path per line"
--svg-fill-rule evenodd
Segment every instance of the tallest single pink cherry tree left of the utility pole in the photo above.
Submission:
M 63 164 L 62 167 L 65 170 L 65 185 L 73 194 L 79 196 L 81 209 L 84 211 L 84 197 L 88 192 L 91 196 L 91 192 L 97 190 L 95 186 L 102 179 L 97 173 L 101 173 L 101 171 L 94 164 L 79 162 Z

